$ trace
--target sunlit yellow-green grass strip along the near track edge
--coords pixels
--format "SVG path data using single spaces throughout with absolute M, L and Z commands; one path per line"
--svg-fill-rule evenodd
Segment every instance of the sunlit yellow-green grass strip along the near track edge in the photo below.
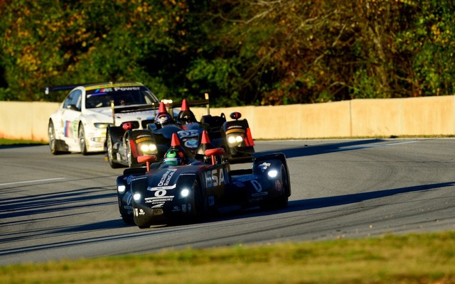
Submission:
M 0 283 L 455 283 L 455 231 L 23 263 Z

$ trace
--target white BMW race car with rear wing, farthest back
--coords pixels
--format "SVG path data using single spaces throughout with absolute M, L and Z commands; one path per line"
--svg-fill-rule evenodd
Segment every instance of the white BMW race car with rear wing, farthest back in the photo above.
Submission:
M 70 93 L 48 122 L 50 153 L 106 151 L 106 129 L 124 122 L 153 121 L 159 99 L 139 82 L 102 82 L 46 87 Z

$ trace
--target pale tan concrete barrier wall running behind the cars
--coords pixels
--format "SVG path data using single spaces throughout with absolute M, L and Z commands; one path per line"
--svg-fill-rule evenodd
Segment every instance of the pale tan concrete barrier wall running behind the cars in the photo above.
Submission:
M 0 138 L 48 141 L 48 119 L 60 103 L 0 102 Z M 192 108 L 196 118 L 205 108 Z M 229 120 L 239 111 L 255 139 L 355 138 L 455 134 L 455 96 L 354 99 L 276 107 L 212 108 Z

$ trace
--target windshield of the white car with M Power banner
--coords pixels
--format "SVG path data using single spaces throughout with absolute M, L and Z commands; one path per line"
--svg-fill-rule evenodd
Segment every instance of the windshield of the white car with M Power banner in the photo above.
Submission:
M 115 106 L 159 104 L 159 99 L 146 87 L 122 87 L 87 90 L 85 108 L 109 107 L 111 101 Z

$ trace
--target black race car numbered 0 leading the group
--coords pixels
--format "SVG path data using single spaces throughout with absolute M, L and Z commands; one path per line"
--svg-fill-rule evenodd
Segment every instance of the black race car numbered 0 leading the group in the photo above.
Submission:
M 129 168 L 117 178 L 124 222 L 144 229 L 176 220 L 198 221 L 209 212 L 287 207 L 291 184 L 283 153 L 257 155 L 252 166 L 231 170 L 223 158 L 224 149 L 210 143 L 207 131 L 200 143 L 204 153 L 200 160 L 181 162 L 176 154 L 179 142 L 174 141 L 178 138 L 173 138 L 164 162 L 156 163 L 156 155 L 140 156 L 146 167 Z

